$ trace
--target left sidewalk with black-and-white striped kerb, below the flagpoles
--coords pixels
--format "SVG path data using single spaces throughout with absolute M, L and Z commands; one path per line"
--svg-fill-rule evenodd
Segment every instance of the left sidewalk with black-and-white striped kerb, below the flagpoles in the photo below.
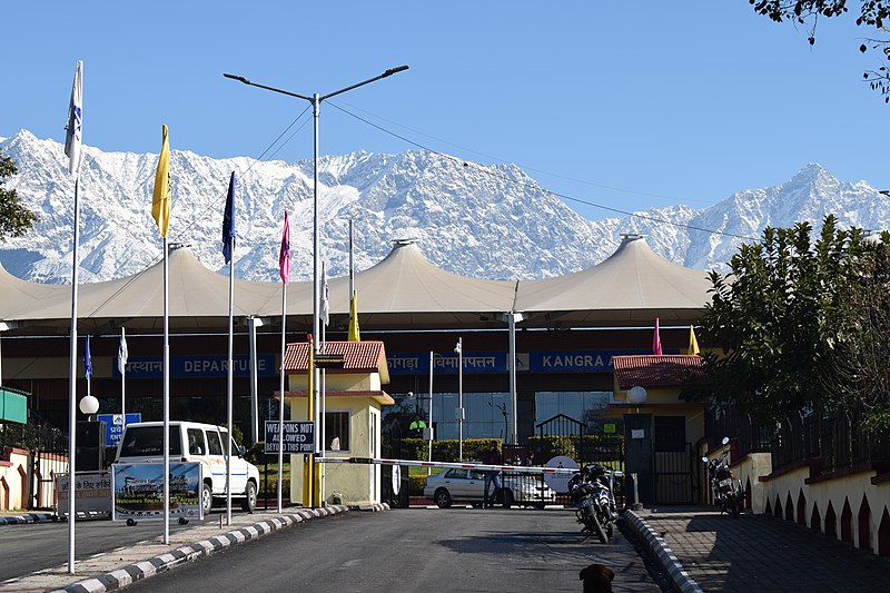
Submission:
M 375 504 L 359 507 L 359 510 L 385 511 L 388 510 L 388 506 Z M 126 548 L 115 550 L 113 553 L 109 551 L 106 554 L 80 560 L 75 565 L 76 574 L 69 574 L 68 564 L 65 564 L 0 583 L 0 593 L 14 591 L 102 593 L 113 591 L 168 571 L 177 564 L 208 556 L 226 547 L 263 537 L 290 525 L 348 511 L 347 506 L 333 505 L 324 508 L 287 510 L 284 514 L 261 510 L 253 515 L 233 514 L 231 525 L 225 525 L 221 521 L 219 523 L 208 521 L 192 528 L 170 533 L 169 544 L 164 544 L 161 537 L 156 537 Z M 41 515 L 31 518 L 46 521 L 47 517 Z

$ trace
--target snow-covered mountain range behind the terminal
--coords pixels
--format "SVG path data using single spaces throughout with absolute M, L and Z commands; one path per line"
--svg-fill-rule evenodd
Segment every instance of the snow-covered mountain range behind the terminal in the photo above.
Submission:
M 73 181 L 62 145 L 22 130 L 0 139 L 0 150 L 18 167 L 7 188 L 40 217 L 33 231 L 0 243 L 0 263 L 20 278 L 70 283 Z M 81 281 L 128 276 L 158 261 L 161 241 L 151 218 L 157 155 L 92 147 L 83 152 Z M 322 254 L 332 277 L 348 271 L 349 220 L 359 271 L 383 259 L 393 240 L 413 238 L 437 266 L 490 279 L 544 278 L 593 266 L 615 250 L 624 233 L 645 235 L 655 253 L 678 264 L 725 269 L 738 246 L 760 237 L 768 225 L 810 220 L 818 228 L 834 214 L 842 225 L 890 228 L 890 199 L 864 181 L 835 179 L 819 165 L 807 165 L 781 186 L 739 191 L 703 210 L 671 206 L 603 220 L 584 219 L 513 165 L 406 151 L 324 157 L 319 166 Z M 190 245 L 205 266 L 227 273 L 220 237 L 233 170 L 238 176 L 236 276 L 277 278 L 287 209 L 291 277 L 310 278 L 310 161 L 212 159 L 172 150 L 168 239 Z

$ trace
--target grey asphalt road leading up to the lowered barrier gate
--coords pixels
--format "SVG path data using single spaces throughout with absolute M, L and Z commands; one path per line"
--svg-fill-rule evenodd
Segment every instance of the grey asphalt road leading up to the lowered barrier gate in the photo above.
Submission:
M 571 511 L 393 510 L 295 525 L 137 583 L 128 591 L 572 591 L 591 563 L 614 590 L 660 592 L 621 534 L 583 540 Z

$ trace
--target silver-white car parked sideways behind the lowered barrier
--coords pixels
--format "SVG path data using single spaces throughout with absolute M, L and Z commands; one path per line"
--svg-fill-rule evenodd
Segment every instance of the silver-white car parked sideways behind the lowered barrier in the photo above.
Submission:
M 555 493 L 544 484 L 540 475 L 527 473 L 502 473 L 501 491 L 495 502 L 505 508 L 513 505 L 544 508 L 545 504 L 556 500 Z M 485 474 L 478 470 L 453 467 L 426 478 L 424 496 L 436 503 L 439 508 L 447 508 L 453 502 L 482 504 L 485 488 Z M 494 490 L 493 486 L 490 488 Z

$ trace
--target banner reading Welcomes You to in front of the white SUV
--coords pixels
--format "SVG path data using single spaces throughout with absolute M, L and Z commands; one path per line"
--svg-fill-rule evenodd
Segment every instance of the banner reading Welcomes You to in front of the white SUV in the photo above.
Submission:
M 204 518 L 201 464 L 170 463 L 170 517 Z M 115 495 L 112 521 L 164 520 L 164 464 L 116 463 L 111 466 Z

